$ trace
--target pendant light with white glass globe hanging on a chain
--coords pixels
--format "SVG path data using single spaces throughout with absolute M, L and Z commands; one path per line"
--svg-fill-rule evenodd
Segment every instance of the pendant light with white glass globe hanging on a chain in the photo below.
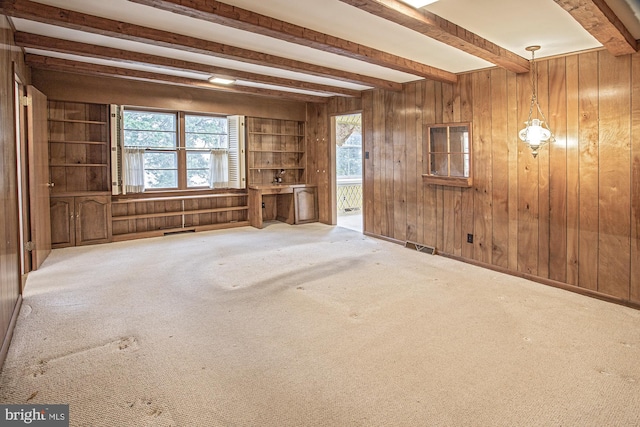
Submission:
M 540 148 L 548 142 L 555 141 L 553 132 L 549 129 L 547 119 L 544 117 L 540 104 L 538 104 L 538 65 L 535 62 L 535 52 L 538 49 L 540 49 L 540 46 L 526 48 L 528 52 L 531 52 L 531 66 L 529 69 L 531 75 L 531 105 L 529 106 L 529 118 L 524 122 L 527 126 L 518 133 L 520 139 L 531 148 L 534 158 L 538 156 Z M 534 107 L 536 110 L 535 117 Z

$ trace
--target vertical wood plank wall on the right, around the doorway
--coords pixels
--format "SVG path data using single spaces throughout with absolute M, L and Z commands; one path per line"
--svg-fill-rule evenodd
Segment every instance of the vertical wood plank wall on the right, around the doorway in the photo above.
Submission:
M 556 142 L 537 158 L 517 136 L 529 110 L 527 74 L 490 69 L 455 85 L 365 92 L 364 230 L 638 304 L 640 54 L 541 60 L 538 85 Z M 335 109 L 309 108 L 311 139 L 326 138 Z M 425 126 L 459 121 L 473 126 L 473 187 L 423 184 Z M 325 145 L 316 170 L 328 162 Z M 322 188 L 326 177 L 317 181 Z M 319 201 L 322 220 L 326 194 Z

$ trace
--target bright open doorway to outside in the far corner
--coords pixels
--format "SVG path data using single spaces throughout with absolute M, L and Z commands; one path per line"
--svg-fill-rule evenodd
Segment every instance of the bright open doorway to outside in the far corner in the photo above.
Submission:
M 337 225 L 362 232 L 362 115 L 333 119 Z

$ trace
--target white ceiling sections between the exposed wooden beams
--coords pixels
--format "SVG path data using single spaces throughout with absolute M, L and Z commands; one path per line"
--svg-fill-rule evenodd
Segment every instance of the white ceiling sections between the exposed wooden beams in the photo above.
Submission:
M 338 0 L 222 0 L 224 3 L 248 9 L 263 15 L 337 36 L 381 51 L 411 59 L 452 73 L 477 70 L 494 65 L 430 39 L 393 22 L 347 5 Z M 636 39 L 640 38 L 640 6 L 637 0 L 606 0 L 611 9 L 626 25 Z M 128 0 L 37 0 L 37 3 L 71 9 L 127 23 L 179 33 L 200 39 L 211 40 L 253 51 L 291 58 L 311 64 L 323 65 L 367 76 L 404 83 L 420 79 L 416 75 L 396 71 L 356 59 L 323 52 L 309 47 L 277 40 L 247 31 L 208 23 Z M 451 21 L 475 34 L 524 58 L 529 58 L 525 47 L 541 45 L 537 57 L 553 56 L 601 47 L 569 13 L 554 0 L 439 0 L 426 10 Z M 195 54 L 184 50 L 132 42 L 114 37 L 85 33 L 42 24 L 25 19 L 12 18 L 17 31 L 28 32 L 65 40 L 78 41 L 99 46 L 167 56 L 213 66 L 222 66 L 264 75 L 285 77 L 293 80 L 328 84 L 356 90 L 367 89 L 366 85 L 346 83 L 325 77 L 300 72 L 249 64 L 246 62 L 217 58 L 212 55 Z M 169 71 L 156 66 L 125 64 L 122 62 L 97 60 L 68 54 L 26 49 L 27 53 L 72 59 L 95 64 L 153 71 L 188 78 L 206 80 L 209 75 L 198 72 Z M 238 85 L 256 86 L 256 83 L 238 81 Z M 258 84 L 270 89 L 307 92 L 280 86 Z M 329 96 L 328 94 L 324 94 Z

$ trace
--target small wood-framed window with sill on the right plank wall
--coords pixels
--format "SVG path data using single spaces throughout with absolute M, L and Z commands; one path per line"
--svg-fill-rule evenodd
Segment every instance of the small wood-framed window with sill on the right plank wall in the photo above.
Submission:
M 430 184 L 470 187 L 471 125 L 454 123 L 427 128 L 426 173 Z

